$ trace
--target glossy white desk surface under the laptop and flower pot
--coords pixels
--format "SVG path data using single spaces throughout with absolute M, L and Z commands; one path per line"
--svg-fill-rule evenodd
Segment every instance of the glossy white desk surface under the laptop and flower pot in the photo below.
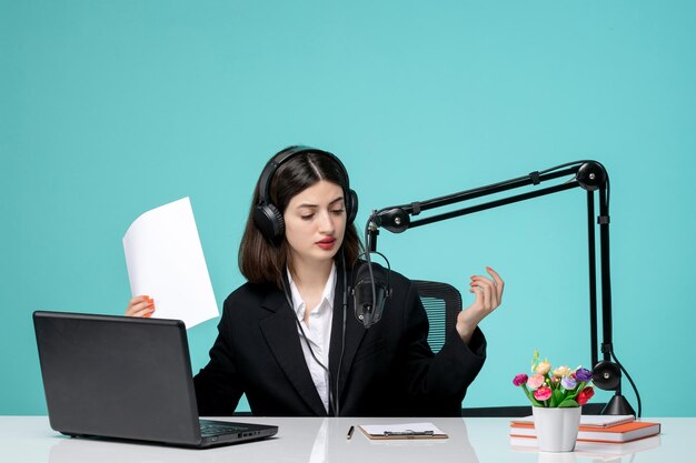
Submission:
M 46 416 L 0 416 L 0 462 L 2 463 L 583 463 L 634 462 L 672 463 L 693 461 L 696 454 L 696 417 L 648 419 L 663 424 L 660 436 L 650 437 L 652 449 L 617 454 L 588 453 L 578 443 L 573 453 L 539 453 L 513 449 L 508 419 L 236 419 L 277 424 L 276 437 L 210 450 L 188 450 L 136 443 L 64 437 L 49 426 Z M 449 434 L 447 440 L 369 441 L 351 424 L 430 421 Z

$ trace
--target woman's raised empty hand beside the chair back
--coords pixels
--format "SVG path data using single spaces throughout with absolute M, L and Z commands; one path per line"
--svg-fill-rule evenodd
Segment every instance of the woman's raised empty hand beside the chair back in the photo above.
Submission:
M 500 275 L 487 266 L 486 271 L 491 278 L 474 275 L 471 276 L 469 292 L 476 294 L 476 300 L 457 316 L 457 332 L 461 340 L 468 344 L 474 334 L 474 330 L 481 320 L 488 316 L 503 302 L 503 290 L 505 282 Z

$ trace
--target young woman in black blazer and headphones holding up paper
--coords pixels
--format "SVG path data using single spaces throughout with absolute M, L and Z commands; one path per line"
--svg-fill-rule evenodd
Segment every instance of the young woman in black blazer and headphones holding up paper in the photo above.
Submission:
M 334 154 L 290 147 L 266 165 L 239 249 L 248 282 L 225 301 L 209 363 L 196 375 L 201 415 L 231 415 L 242 393 L 255 415 L 437 416 L 458 414 L 486 358 L 478 323 L 504 282 L 471 276 L 475 302 L 434 354 L 416 289 L 390 272 L 379 323 L 352 315 L 361 263 L 357 195 Z M 133 298 L 127 315 L 155 303 Z

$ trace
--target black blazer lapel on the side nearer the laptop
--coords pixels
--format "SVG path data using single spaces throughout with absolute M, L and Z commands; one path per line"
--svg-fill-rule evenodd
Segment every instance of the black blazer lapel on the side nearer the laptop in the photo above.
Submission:
M 275 315 L 260 322 L 260 328 L 278 365 L 311 411 L 316 415 L 326 416 L 326 409 L 305 361 L 292 309 L 280 291 L 270 293 L 262 306 L 275 312 Z

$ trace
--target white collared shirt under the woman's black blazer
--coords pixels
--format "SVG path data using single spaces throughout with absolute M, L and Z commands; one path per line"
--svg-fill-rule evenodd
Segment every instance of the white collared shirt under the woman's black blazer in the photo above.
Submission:
M 309 313 L 309 322 L 305 323 L 305 309 L 306 304 L 302 296 L 297 289 L 297 285 L 292 281 L 289 269 L 286 269 L 288 273 L 288 280 L 290 282 L 290 295 L 292 296 L 292 310 L 297 314 L 297 319 L 305 330 L 309 345 L 319 361 L 329 368 L 329 345 L 331 343 L 331 321 L 334 320 L 334 295 L 336 294 L 336 264 L 331 265 L 331 273 L 324 286 L 324 293 L 321 294 L 321 301 L 319 305 L 314 308 Z M 308 325 L 309 324 L 309 325 Z M 302 333 L 297 329 L 300 335 L 300 344 L 302 345 L 302 353 L 305 354 L 305 361 L 309 368 L 311 380 L 317 387 L 317 392 L 324 402 L 324 407 L 327 413 L 329 411 L 329 373 L 324 370 L 321 365 L 311 356 L 311 352 L 307 348 L 307 342 L 302 338 Z

